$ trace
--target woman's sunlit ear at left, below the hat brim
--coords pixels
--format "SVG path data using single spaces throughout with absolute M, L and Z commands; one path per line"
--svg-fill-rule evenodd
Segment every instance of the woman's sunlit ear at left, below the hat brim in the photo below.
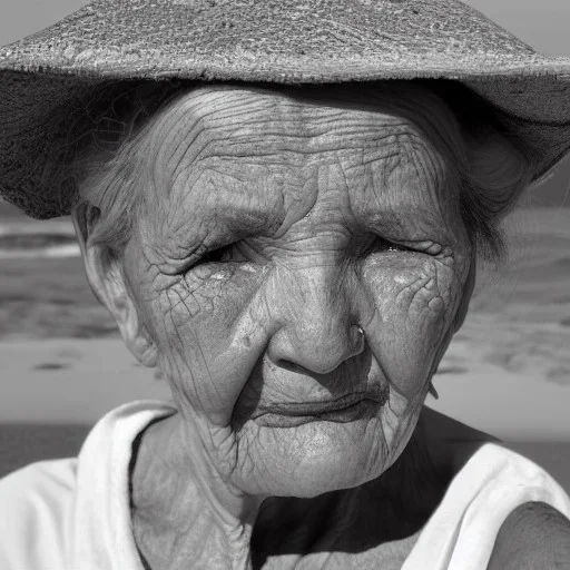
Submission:
M 99 216 L 99 209 L 87 203 L 76 206 L 71 214 L 87 281 L 99 303 L 115 317 L 122 340 L 132 355 L 140 364 L 154 367 L 158 361 L 158 352 L 139 318 L 128 287 L 122 258 L 105 245 L 90 243 Z

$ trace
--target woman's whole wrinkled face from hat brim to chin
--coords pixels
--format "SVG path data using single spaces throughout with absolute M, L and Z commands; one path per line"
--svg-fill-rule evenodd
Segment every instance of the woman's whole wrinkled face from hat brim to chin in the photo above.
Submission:
M 384 472 L 469 301 L 452 165 L 353 89 L 203 88 L 145 146 L 130 295 L 187 430 L 246 493 Z

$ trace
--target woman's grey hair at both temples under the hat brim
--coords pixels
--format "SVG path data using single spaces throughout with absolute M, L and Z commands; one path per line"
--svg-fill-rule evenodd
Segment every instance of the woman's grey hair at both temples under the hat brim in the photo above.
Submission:
M 455 166 L 461 215 L 471 243 L 480 258 L 500 261 L 505 249 L 500 222 L 531 178 L 518 141 L 480 115 L 470 120 L 458 118 L 442 97 L 424 85 L 382 81 L 375 87 L 382 89 L 383 101 L 411 118 Z M 94 125 L 75 165 L 79 196 L 72 209 L 77 215 L 80 207 L 87 208 L 88 219 L 94 222 L 90 244 L 104 245 L 115 255 L 122 253 L 141 213 L 140 188 L 147 185 L 145 177 L 153 161 L 147 135 L 156 125 L 157 111 L 176 109 L 194 88 L 168 82 L 135 87 L 114 100 Z M 289 89 L 294 92 L 295 88 Z M 466 101 L 463 105 L 469 106 Z

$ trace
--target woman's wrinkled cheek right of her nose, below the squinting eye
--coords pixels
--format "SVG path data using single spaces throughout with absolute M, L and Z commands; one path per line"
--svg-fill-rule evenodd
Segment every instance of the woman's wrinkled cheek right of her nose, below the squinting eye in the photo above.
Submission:
M 413 399 L 451 338 L 462 281 L 451 262 L 413 253 L 371 258 L 362 275 L 374 304 L 371 350 L 392 387 Z

